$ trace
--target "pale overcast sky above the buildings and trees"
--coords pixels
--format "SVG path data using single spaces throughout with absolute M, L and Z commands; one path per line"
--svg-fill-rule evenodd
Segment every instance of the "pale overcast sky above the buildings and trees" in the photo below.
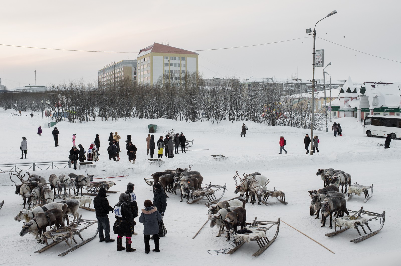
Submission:
M 332 81 L 401 82 L 399 1 L 2 1 L 0 44 L 132 53 L 69 52 L 0 45 L 8 89 L 84 79 L 110 62 L 135 59 L 154 42 L 198 51 L 203 77 L 312 78 L 313 38 Z M 304 38 L 304 39 L 298 39 Z M 330 42 L 327 42 L 325 40 Z M 291 39 L 288 42 L 282 42 Z M 340 46 L 341 45 L 341 46 Z M 377 58 L 363 54 L 387 58 Z M 394 61 L 398 62 L 394 62 Z M 322 78 L 317 68 L 315 78 Z

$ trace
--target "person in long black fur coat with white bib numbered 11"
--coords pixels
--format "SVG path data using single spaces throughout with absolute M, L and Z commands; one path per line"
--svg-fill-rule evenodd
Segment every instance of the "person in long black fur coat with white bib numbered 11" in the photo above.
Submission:
M 117 251 L 124 250 L 122 246 L 123 236 L 126 236 L 126 252 L 133 252 L 136 249 L 131 248 L 131 236 L 134 229 L 134 217 L 131 212 L 131 197 L 126 193 L 121 193 L 117 204 L 114 205 L 115 222 L 113 226 L 114 234 L 117 234 Z

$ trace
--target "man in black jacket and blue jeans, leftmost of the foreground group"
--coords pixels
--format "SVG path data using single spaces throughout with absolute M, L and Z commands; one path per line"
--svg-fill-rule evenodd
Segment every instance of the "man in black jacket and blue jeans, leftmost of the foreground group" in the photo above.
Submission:
M 99 193 L 93 199 L 93 206 L 95 207 L 97 228 L 99 228 L 99 242 L 105 240 L 106 243 L 114 242 L 114 239 L 110 238 L 110 221 L 109 216 L 107 216 L 114 208 L 109 205 L 109 201 L 106 199 L 106 189 L 104 187 L 99 189 Z M 103 230 L 106 238 L 103 235 Z

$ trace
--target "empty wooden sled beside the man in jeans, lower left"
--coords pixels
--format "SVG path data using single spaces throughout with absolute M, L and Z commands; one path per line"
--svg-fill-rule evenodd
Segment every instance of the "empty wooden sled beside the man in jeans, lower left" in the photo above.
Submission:
M 81 236 L 81 232 L 83 230 L 85 230 L 86 228 L 88 228 L 89 226 L 91 226 L 93 224 L 97 224 L 97 220 L 96 221 L 95 220 L 85 220 L 85 219 L 81 219 L 81 216 L 79 217 L 77 223 L 71 223 L 66 227 L 59 228 L 57 230 L 51 229 L 50 231 L 43 233 L 43 238 L 45 239 L 46 246 L 41 248 L 40 250 L 36 250 L 35 253 L 41 253 L 41 252 L 51 248 L 52 246 L 55 246 L 56 244 L 65 241 L 67 243 L 67 245 L 69 246 L 69 248 L 59 254 L 59 256 L 64 256 L 64 255 L 67 255 L 69 252 L 76 250 L 80 246 L 83 246 L 87 242 L 93 240 L 93 238 L 95 238 L 98 233 L 97 228 L 96 228 L 95 234 L 92 237 L 87 238 L 85 240 Z M 79 228 L 78 226 L 80 223 L 83 223 L 86 225 Z M 82 242 L 78 243 L 77 240 L 75 240 L 76 235 L 78 235 L 79 238 L 81 238 Z M 49 244 L 48 239 L 53 240 L 53 242 Z M 70 240 L 70 242 L 74 241 L 75 245 L 71 246 L 71 244 L 69 243 L 69 240 Z

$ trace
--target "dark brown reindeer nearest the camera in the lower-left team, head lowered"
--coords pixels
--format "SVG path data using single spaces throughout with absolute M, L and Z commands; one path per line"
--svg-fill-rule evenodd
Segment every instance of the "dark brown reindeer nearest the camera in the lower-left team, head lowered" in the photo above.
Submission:
M 56 228 L 64 226 L 63 214 L 59 209 L 50 209 L 45 212 L 39 212 L 29 222 L 24 223 L 20 236 L 24 236 L 28 232 L 36 235 L 35 239 L 38 243 L 44 242 L 42 232 L 46 232 L 47 226 L 55 225 Z

